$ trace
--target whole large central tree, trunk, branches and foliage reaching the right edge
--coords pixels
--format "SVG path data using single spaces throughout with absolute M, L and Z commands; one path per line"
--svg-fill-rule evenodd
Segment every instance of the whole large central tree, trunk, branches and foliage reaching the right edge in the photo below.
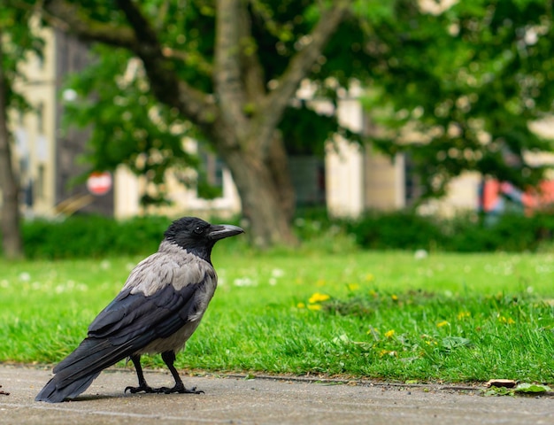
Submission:
M 523 154 L 550 150 L 527 126 L 551 109 L 549 4 L 45 0 L 39 5 L 51 25 L 108 46 L 95 48 L 96 66 L 71 82 L 81 98 L 68 105 L 82 125 L 96 123 L 93 164 L 124 162 L 159 182 L 167 166 L 195 164 L 179 142 L 183 135 L 194 136 L 226 162 L 250 220 L 250 236 L 266 246 L 294 240 L 286 146 L 322 151 L 329 135 L 354 138 L 338 126 L 334 113 L 322 116 L 294 102 L 304 79 L 312 81 L 314 97 L 334 104 L 351 81 L 362 81 L 369 88 L 370 117 L 381 125 L 371 138 L 391 154 L 410 152 L 427 196 L 441 194 L 450 177 L 465 169 L 520 184 L 540 178 L 542 167 L 528 166 Z M 418 135 L 415 140 L 407 141 L 408 129 Z

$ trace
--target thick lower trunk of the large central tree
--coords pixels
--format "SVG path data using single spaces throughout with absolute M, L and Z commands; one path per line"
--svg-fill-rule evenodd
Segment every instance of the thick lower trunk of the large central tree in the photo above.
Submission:
M 227 151 L 224 157 L 241 197 L 242 214 L 250 223 L 252 243 L 260 249 L 296 244 L 288 208 L 281 203 L 269 167 L 238 150 Z

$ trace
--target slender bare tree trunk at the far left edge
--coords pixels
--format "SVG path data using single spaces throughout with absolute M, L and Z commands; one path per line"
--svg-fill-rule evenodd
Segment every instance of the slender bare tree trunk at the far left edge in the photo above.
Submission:
M 0 189 L 2 191 L 2 245 L 8 259 L 23 257 L 23 243 L 19 229 L 19 190 L 13 174 L 12 150 L 7 126 L 7 89 L 0 34 Z

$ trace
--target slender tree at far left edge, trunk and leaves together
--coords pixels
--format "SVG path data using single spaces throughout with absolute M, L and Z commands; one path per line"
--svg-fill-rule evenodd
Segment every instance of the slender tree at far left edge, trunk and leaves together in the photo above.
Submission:
M 41 51 L 41 41 L 31 34 L 27 11 L 10 7 L 0 9 L 0 220 L 4 256 L 23 257 L 23 243 L 19 227 L 19 186 L 12 164 L 11 134 L 7 125 L 8 109 L 27 109 L 23 97 L 13 90 L 18 78 L 18 67 L 26 52 Z

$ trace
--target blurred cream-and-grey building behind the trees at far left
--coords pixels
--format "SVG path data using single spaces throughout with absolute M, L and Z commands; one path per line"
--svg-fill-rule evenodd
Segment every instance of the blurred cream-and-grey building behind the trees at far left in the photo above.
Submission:
M 84 182 L 77 180 L 86 170 L 79 161 L 86 132 L 63 134 L 59 130 L 63 79 L 67 73 L 87 66 L 88 49 L 59 31 L 45 30 L 41 35 L 45 42 L 43 57 L 30 55 L 21 68 L 25 77 L 15 81 L 31 110 L 12 111 L 10 116 L 23 211 L 30 217 L 53 217 L 78 210 L 112 213 L 112 193 L 92 197 Z

